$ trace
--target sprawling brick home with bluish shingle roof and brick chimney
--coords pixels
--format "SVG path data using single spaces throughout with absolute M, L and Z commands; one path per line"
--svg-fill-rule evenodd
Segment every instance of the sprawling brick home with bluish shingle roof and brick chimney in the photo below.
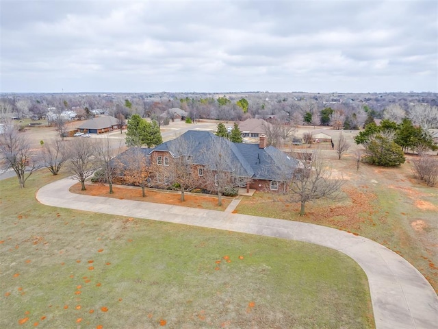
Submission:
M 181 142 L 181 140 L 183 142 Z M 221 140 L 221 141 L 219 141 Z M 142 149 L 149 156 L 149 163 L 156 165 L 159 175 L 172 175 L 171 162 L 175 158 L 175 152 L 178 145 L 188 145 L 185 156 L 190 157 L 192 166 L 192 175 L 198 180 L 199 188 L 205 186 L 204 171 L 212 169 L 211 153 L 215 151 L 215 145 L 225 143 L 229 147 L 226 152 L 229 157 L 227 170 L 233 175 L 235 184 L 239 187 L 253 188 L 255 190 L 278 191 L 287 186 L 287 182 L 292 180 L 292 175 L 297 167 L 298 161 L 290 158 L 284 152 L 273 146 L 266 147 L 266 136 L 260 137 L 259 144 L 232 143 L 226 138 L 212 134 L 211 132 L 189 130 L 178 138 L 157 145 L 154 149 Z M 216 150 L 217 151 L 217 150 Z M 118 158 L 129 158 L 128 149 Z M 156 179 L 159 183 L 159 175 Z M 172 180 L 168 180 L 171 182 Z

